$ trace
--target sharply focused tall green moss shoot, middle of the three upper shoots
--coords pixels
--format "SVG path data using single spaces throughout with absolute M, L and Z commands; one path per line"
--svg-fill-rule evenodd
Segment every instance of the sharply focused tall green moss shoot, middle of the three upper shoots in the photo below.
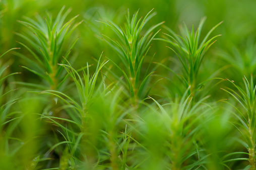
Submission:
M 141 75 L 142 64 L 151 47 L 151 42 L 160 30 L 155 34 L 152 34 L 152 31 L 164 23 L 162 22 L 152 26 L 144 31 L 145 33 L 142 35 L 141 32 L 146 23 L 156 15 L 156 13 L 150 14 L 152 11 L 153 10 L 151 10 L 144 18 L 140 19 L 138 19 L 139 11 L 133 15 L 132 19 L 130 18 L 130 12 L 128 11 L 126 15 L 126 23 L 124 25 L 125 30 L 110 21 L 99 21 L 111 27 L 118 37 L 118 41 L 114 41 L 102 34 L 104 40 L 116 51 L 118 58 L 122 62 L 124 69 L 121 69 L 120 66 L 115 63 L 114 65 L 122 72 L 125 78 L 126 84 L 124 84 L 124 86 L 130 92 L 133 104 L 135 104 L 138 99 L 142 100 L 147 96 L 149 91 L 145 91 L 147 89 L 146 85 L 150 75 L 154 73 L 149 73 L 153 56 L 145 75 Z

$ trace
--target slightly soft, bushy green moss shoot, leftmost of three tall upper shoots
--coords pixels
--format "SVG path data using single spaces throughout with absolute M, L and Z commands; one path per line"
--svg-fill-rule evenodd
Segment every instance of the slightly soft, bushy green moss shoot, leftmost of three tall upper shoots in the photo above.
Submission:
M 36 16 L 37 22 L 25 17 L 28 22 L 18 22 L 28 27 L 30 33 L 33 33 L 33 35 L 15 33 L 26 40 L 26 44 L 29 46 L 21 42 L 18 43 L 26 48 L 33 56 L 33 59 L 30 59 L 22 54 L 17 54 L 26 60 L 27 63 L 30 63 L 30 68 L 26 66 L 21 67 L 48 82 L 51 90 L 59 89 L 65 80 L 65 75 L 62 74 L 63 67 L 57 67 L 57 63 L 62 60 L 62 56 L 65 56 L 65 58 L 69 57 L 78 38 L 68 45 L 69 39 L 74 30 L 83 22 L 81 21 L 72 26 L 73 21 L 79 16 L 77 15 L 65 23 L 66 17 L 71 10 L 69 9 L 63 13 L 64 10 L 65 7 L 59 11 L 55 20 L 52 19 L 52 16 L 48 12 L 46 12 L 44 19 Z

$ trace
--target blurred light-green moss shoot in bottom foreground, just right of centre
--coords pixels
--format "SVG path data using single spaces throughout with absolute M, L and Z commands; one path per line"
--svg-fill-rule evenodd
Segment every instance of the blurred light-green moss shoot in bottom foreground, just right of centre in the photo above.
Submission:
M 211 110 L 202 102 L 209 96 L 192 106 L 192 98 L 190 95 L 186 97 L 186 92 L 180 100 L 176 98 L 163 105 L 149 97 L 159 110 L 146 112 L 140 125 L 148 148 L 145 155 L 150 156 L 145 169 L 194 169 L 206 162 L 208 155 L 198 142 L 202 128 L 199 122 L 207 121 Z

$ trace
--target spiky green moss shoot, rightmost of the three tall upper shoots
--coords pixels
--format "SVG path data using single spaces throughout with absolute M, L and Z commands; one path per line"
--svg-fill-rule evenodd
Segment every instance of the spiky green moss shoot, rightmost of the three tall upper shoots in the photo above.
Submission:
M 190 93 L 195 95 L 202 85 L 205 82 L 198 83 L 197 77 L 200 70 L 200 66 L 203 62 L 206 52 L 216 41 L 212 42 L 216 37 L 221 35 L 214 36 L 208 40 L 211 33 L 222 23 L 217 24 L 213 27 L 208 34 L 204 37 L 202 42 L 200 43 L 200 36 L 202 33 L 203 25 L 205 23 L 206 18 L 203 18 L 200 21 L 199 27 L 195 33 L 194 25 L 192 26 L 191 32 L 188 30 L 187 26 L 184 24 L 184 27 L 180 28 L 180 32 L 182 36 L 177 35 L 168 27 L 164 27 L 169 33 L 165 34 L 164 39 L 156 39 L 162 40 L 169 43 L 172 47 L 168 47 L 171 49 L 176 56 L 178 57 L 183 70 L 183 75 L 177 75 L 175 72 L 171 71 L 175 74 L 176 77 L 184 84 L 187 88 L 191 86 Z

